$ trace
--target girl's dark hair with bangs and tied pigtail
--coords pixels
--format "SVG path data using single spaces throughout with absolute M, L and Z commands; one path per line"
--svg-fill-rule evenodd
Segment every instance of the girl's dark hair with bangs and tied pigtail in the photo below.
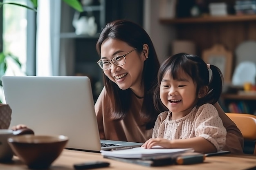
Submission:
M 196 94 L 198 95 L 200 90 L 205 86 L 208 86 L 208 93 L 198 98 L 196 107 L 202 106 L 206 103 L 215 104 L 220 98 L 222 92 L 223 75 L 220 69 L 214 65 L 210 65 L 211 77 L 209 79 L 209 71 L 207 64 L 196 55 L 189 55 L 186 53 L 178 53 L 171 57 L 168 57 L 160 66 L 157 79 L 158 85 L 154 93 L 154 105 L 156 108 L 164 106 L 159 105 L 160 84 L 164 77 L 164 74 L 170 72 L 173 79 L 180 78 L 180 71 L 188 74 L 193 82 L 197 85 Z

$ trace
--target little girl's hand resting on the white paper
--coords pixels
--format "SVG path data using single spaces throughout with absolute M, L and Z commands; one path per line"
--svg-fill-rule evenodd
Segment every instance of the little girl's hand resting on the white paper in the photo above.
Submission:
M 141 147 L 150 149 L 153 146 L 162 146 L 164 148 L 172 148 L 171 140 L 160 138 L 160 137 L 157 137 L 155 139 L 152 139 L 152 138 L 148 139 Z

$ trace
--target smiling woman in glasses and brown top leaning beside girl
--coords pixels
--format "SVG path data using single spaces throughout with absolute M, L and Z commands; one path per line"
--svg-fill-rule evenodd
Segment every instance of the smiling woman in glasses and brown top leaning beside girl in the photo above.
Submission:
M 104 73 L 104 88 L 94 106 L 100 138 L 144 143 L 152 137 L 157 115 L 165 111 L 153 106 L 159 61 L 149 35 L 133 22 L 116 20 L 104 27 L 96 49 Z M 214 106 L 227 130 L 223 150 L 243 152 L 240 130 L 218 102 Z

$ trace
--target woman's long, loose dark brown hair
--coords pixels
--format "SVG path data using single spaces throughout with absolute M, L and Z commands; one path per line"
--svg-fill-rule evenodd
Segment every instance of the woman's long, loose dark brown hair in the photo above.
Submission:
M 141 117 L 141 125 L 146 126 L 146 129 L 151 129 L 159 114 L 153 105 L 153 88 L 157 84 L 157 71 L 159 69 L 159 61 L 153 43 L 148 33 L 138 24 L 128 20 L 116 20 L 106 24 L 101 31 L 96 44 L 99 56 L 101 56 L 101 44 L 108 38 L 126 42 L 129 46 L 137 48 L 137 53 L 142 53 L 143 45 L 148 44 L 148 59 L 144 62 L 142 73 L 144 100 L 139 114 Z M 131 107 L 132 91 L 130 88 L 121 90 L 117 84 L 112 82 L 106 75 L 103 75 L 103 80 L 112 103 L 111 116 L 113 120 L 124 119 Z

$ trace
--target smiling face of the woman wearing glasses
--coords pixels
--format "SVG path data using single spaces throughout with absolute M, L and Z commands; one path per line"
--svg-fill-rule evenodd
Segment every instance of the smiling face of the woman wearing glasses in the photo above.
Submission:
M 143 87 L 142 72 L 145 57 L 143 53 L 138 53 L 135 49 L 135 47 L 129 46 L 126 42 L 109 38 L 101 45 L 101 57 L 104 60 L 110 61 L 130 51 L 125 56 L 125 63 L 123 65 L 118 66 L 112 63 L 108 70 L 104 70 L 104 74 L 122 90 L 131 88 L 132 91 L 139 92 L 137 95 L 143 96 L 140 92 L 141 87 Z

